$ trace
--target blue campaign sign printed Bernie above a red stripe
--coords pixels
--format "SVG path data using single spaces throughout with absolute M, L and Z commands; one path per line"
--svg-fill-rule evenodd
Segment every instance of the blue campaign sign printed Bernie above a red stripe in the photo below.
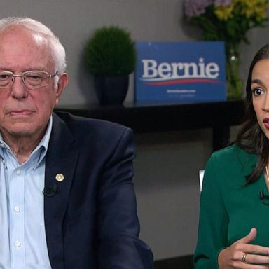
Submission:
M 222 41 L 137 42 L 136 102 L 226 100 Z

